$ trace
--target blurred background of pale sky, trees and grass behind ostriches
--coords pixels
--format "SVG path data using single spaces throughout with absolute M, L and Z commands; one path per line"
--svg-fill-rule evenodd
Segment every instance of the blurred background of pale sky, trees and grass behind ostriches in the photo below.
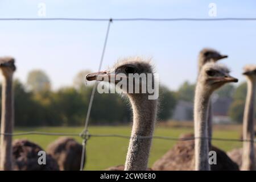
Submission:
M 212 1 L 0 1 L 0 18 L 227 18 L 256 17 L 255 1 L 214 1 L 217 16 L 209 17 Z M 1 21 L 0 55 L 13 56 L 15 131 L 80 133 L 92 84 L 85 75 L 97 71 L 107 22 Z M 197 55 L 204 47 L 229 55 L 222 63 L 240 78 L 213 96 L 214 136 L 239 138 L 246 97 L 245 64 L 255 64 L 256 23 L 113 22 L 103 69 L 120 57 L 153 57 L 160 76 L 160 111 L 156 135 L 178 137 L 193 131 L 193 96 Z M 255 115 L 256 117 L 256 115 Z M 98 94 L 90 115 L 91 133 L 130 135 L 131 111 L 116 94 Z M 17 138 L 17 137 L 16 137 Z M 46 147 L 56 137 L 25 136 Z M 77 138 L 77 140 L 81 140 Z M 123 164 L 128 139 L 92 138 L 88 142 L 88 169 Z M 154 140 L 150 163 L 175 142 Z M 214 142 L 213 142 L 214 143 Z M 217 142 L 223 150 L 241 143 Z M 102 157 L 104 151 L 104 157 Z

